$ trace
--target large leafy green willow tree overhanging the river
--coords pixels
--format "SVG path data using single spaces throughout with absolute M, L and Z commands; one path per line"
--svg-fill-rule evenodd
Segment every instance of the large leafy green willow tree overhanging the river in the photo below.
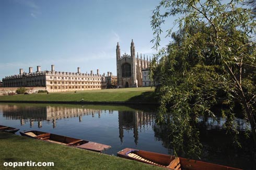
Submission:
M 179 31 L 166 30 L 173 38 L 161 48 L 151 64 L 151 78 L 160 92 L 159 123 L 169 126 L 172 143 L 197 154 L 197 124 L 223 104 L 227 130 L 238 133 L 234 106 L 250 127 L 256 146 L 256 52 L 255 21 L 241 1 L 162 0 L 153 10 L 151 25 L 158 49 L 162 26 L 171 16 Z M 188 148 L 183 148 L 184 144 Z

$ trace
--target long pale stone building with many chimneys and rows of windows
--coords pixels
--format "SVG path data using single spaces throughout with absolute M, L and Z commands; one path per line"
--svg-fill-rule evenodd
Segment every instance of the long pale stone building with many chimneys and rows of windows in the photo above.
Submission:
M 51 71 L 41 71 L 41 67 L 37 66 L 36 72 L 29 67 L 28 73 L 20 69 L 19 75 L 3 78 L 3 87 L 45 87 L 49 92 L 96 90 L 106 89 L 106 80 L 112 83 L 112 79 L 114 79 L 112 74 L 111 76 L 100 75 L 98 69 L 97 74 L 93 71 L 85 74 L 80 72 L 79 67 L 77 72 L 62 72 L 55 71 L 54 65 Z

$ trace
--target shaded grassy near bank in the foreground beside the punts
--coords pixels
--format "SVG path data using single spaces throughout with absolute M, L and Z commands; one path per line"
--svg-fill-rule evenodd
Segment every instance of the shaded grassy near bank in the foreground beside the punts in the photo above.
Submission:
M 0 169 L 4 162 L 54 162 L 54 167 L 16 167 L 15 169 L 162 169 L 64 145 L 0 132 Z

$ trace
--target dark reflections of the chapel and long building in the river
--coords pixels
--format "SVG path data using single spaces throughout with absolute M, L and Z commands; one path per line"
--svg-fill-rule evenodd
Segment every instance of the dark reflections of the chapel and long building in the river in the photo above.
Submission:
M 99 110 L 92 108 L 63 107 L 63 106 L 18 106 L 18 105 L 0 105 L 3 116 L 6 119 L 20 119 L 20 125 L 30 123 L 30 127 L 37 122 L 38 128 L 43 126 L 46 120 L 52 123 L 52 127 L 57 126 L 57 120 L 63 118 L 78 117 L 78 122 L 82 122 L 82 117 L 90 115 L 92 117 L 101 117 L 101 114 L 113 114 L 113 110 Z M 155 114 L 144 111 L 118 111 L 119 138 L 123 142 L 124 130 L 133 131 L 134 142 L 138 143 L 138 131 L 154 124 Z

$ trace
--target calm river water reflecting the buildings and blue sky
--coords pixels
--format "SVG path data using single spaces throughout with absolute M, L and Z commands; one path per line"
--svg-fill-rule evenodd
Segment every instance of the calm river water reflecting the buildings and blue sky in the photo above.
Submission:
M 113 155 L 123 148 L 173 154 L 168 136 L 156 126 L 155 118 L 156 108 L 150 106 L 0 104 L 0 125 L 108 144 L 112 148 L 106 153 Z M 256 169 L 254 152 L 230 147 L 231 140 L 219 130 L 224 123 L 220 117 L 204 121 L 202 160 Z M 243 119 L 237 119 L 237 124 L 240 130 L 247 126 Z

